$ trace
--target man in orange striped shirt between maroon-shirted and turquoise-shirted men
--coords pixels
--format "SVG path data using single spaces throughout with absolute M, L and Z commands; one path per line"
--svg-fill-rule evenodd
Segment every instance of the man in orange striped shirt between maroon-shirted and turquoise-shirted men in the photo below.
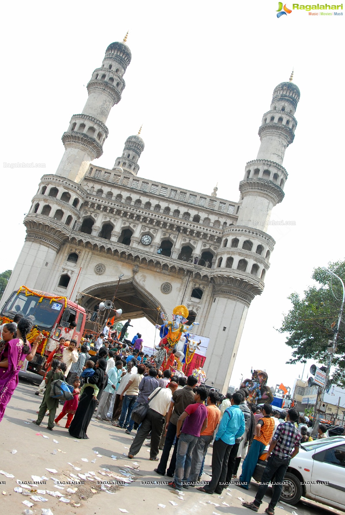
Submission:
M 190 485 L 196 482 L 201 465 L 203 462 L 203 458 L 207 453 L 207 449 L 211 441 L 213 440 L 213 433 L 216 428 L 216 425 L 219 423 L 221 418 L 221 410 L 216 406 L 216 402 L 219 397 L 217 392 L 210 391 L 209 396 L 206 400 L 207 405 L 207 427 L 206 429 L 200 433 L 200 437 L 197 439 L 195 447 L 192 452 L 192 463 L 189 473 L 189 478 L 187 479 L 187 485 Z M 194 486 L 194 485 L 193 485 Z

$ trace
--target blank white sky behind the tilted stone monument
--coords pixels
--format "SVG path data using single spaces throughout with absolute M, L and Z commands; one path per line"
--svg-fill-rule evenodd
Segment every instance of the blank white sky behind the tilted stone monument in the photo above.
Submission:
M 141 177 L 206 194 L 218 182 L 219 197 L 233 201 L 246 162 L 257 156 L 274 87 L 294 66 L 298 126 L 283 163 L 285 198 L 271 219 L 296 226 L 269 228 L 276 248 L 265 290 L 249 308 L 230 382 L 238 386 L 252 366 L 266 369 L 270 385 L 292 387 L 303 365 L 285 365 L 290 349 L 274 328 L 289 309 L 287 296 L 312 284 L 313 268 L 343 259 L 344 16 L 293 11 L 277 19 L 277 8 L 275 0 L 7 3 L 2 161 L 46 168 L 3 169 L 1 220 L 10 237 L 3 237 L 0 271 L 14 267 L 24 214 L 40 177 L 58 167 L 61 136 L 83 109 L 93 70 L 127 30 L 132 62 L 97 164 L 112 168 L 125 139 L 144 124 Z M 152 343 L 149 322 L 135 321 L 130 336 L 137 331 Z

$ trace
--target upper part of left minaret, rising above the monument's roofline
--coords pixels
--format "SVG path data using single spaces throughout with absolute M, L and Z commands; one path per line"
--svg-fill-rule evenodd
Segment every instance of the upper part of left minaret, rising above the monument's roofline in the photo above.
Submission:
M 96 68 L 87 84 L 88 99 L 81 114 L 71 117 L 68 130 L 63 133 L 65 153 L 56 175 L 81 182 L 86 170 L 103 153 L 108 135 L 105 126 L 110 110 L 121 100 L 125 87 L 123 75 L 131 62 L 131 50 L 123 42 L 111 43 L 100 68 Z

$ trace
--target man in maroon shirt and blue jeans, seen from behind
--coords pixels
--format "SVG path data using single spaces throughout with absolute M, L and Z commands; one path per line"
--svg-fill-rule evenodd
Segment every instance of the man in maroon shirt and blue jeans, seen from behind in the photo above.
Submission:
M 208 411 L 204 404 L 207 396 L 208 391 L 204 386 L 197 388 L 194 394 L 195 404 L 189 404 L 177 420 L 178 445 L 175 477 L 171 483 L 168 483 L 175 490 L 181 490 L 182 486 L 188 488 L 185 483 L 190 473 L 192 452 L 200 433 L 207 427 Z M 183 422 L 183 427 L 181 427 Z

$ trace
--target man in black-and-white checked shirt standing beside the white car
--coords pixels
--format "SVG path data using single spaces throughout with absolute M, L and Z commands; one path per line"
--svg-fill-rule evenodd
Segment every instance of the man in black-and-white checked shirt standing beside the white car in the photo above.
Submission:
M 258 492 L 253 502 L 243 502 L 243 506 L 253 511 L 258 511 L 263 496 L 266 493 L 268 484 L 271 480 L 274 482 L 275 489 L 273 491 L 272 499 L 265 509 L 267 515 L 274 515 L 275 506 L 279 501 L 282 492 L 282 482 L 284 480 L 285 472 L 289 466 L 290 459 L 296 456 L 299 451 L 301 441 L 301 434 L 295 426 L 299 413 L 296 409 L 289 409 L 286 415 L 286 422 L 278 425 L 276 432 L 272 438 L 267 452 L 267 465 L 262 474 L 261 483 Z

